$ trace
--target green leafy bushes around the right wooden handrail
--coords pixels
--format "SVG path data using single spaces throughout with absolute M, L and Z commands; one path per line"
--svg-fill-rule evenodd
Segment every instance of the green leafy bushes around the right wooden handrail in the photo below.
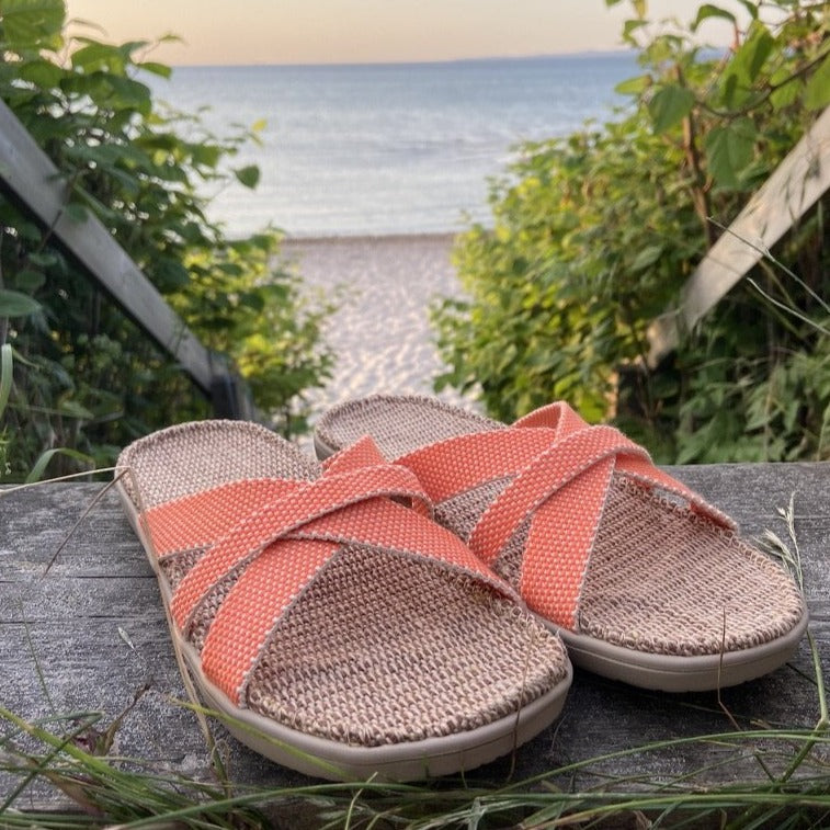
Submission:
M 494 228 L 456 246 L 468 299 L 434 310 L 451 366 L 436 386 L 477 389 L 502 420 L 554 398 L 592 421 L 616 414 L 663 462 L 830 457 L 827 195 L 776 247 L 783 268 L 762 263 L 758 287 L 744 280 L 671 361 L 645 364 L 649 322 L 718 225 L 830 104 L 830 7 L 741 0 L 741 27 L 708 3 L 685 26 L 632 5 L 630 106 L 524 145 L 491 187 Z M 726 55 L 695 45 L 710 18 L 735 27 Z

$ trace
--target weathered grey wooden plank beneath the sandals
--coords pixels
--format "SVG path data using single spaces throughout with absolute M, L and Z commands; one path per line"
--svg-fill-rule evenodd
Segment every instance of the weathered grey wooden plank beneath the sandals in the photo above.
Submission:
M 777 509 L 794 497 L 810 626 L 827 672 L 830 464 L 714 465 L 674 473 L 735 515 L 750 535 L 770 528 L 786 537 Z M 148 685 L 125 718 L 115 751 L 174 772 L 205 775 L 207 755 L 195 719 L 171 702 L 183 698 L 184 692 L 155 578 L 113 494 L 83 520 L 43 576 L 56 546 L 99 487 L 48 485 L 0 498 L 0 701 L 27 718 L 92 708 L 113 718 L 136 690 Z M 818 719 L 811 674 L 804 643 L 792 666 L 724 690 L 721 702 L 742 728 L 758 723 L 809 727 Z M 514 775 L 536 775 L 648 741 L 732 728 L 715 693 L 644 692 L 578 672 L 562 718 L 519 750 Z M 227 740 L 236 782 L 307 781 Z M 768 763 L 775 766 L 774 759 Z M 695 777 L 696 785 L 762 774 L 749 752 L 736 757 L 723 746 L 695 743 L 611 760 L 560 784 L 580 789 L 609 785 L 611 776 L 613 786 L 636 789 L 632 776 L 668 781 L 703 766 L 709 769 Z M 500 783 L 509 769 L 505 759 L 476 773 L 475 780 Z M 626 780 L 613 783 L 621 777 Z M 10 785 L 0 774 L 0 793 Z M 41 785 L 22 804 L 59 803 L 60 794 Z

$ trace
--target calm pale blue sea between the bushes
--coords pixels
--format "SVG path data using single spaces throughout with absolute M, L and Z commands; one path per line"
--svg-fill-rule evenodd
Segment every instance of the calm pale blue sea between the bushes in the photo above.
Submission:
M 254 191 L 215 195 L 228 232 L 295 237 L 454 231 L 488 224 L 488 179 L 522 140 L 565 135 L 624 104 L 627 54 L 444 64 L 180 67 L 154 82 L 219 135 L 264 120 Z

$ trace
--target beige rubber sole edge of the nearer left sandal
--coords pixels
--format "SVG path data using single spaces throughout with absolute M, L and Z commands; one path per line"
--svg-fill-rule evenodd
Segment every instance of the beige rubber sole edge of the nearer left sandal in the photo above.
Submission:
M 116 489 L 130 525 L 138 536 L 158 578 L 166 607 L 171 591 L 138 512 L 121 482 Z M 307 775 L 329 781 L 416 781 L 473 770 L 510 754 L 528 741 L 561 713 L 573 670 L 547 694 L 519 712 L 478 729 L 441 738 L 394 743 L 384 747 L 349 746 L 291 729 L 250 709 L 235 706 L 202 672 L 198 652 L 171 626 L 177 648 L 206 706 L 217 713 L 227 729 L 241 743 L 265 758 Z

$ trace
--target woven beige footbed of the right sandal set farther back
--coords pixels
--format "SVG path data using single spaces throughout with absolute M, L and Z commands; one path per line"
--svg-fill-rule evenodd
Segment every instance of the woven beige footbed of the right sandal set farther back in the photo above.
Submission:
M 330 410 L 318 454 L 371 435 L 395 459 L 434 442 L 508 428 L 433 398 L 373 396 Z M 436 505 L 436 520 L 467 539 L 511 479 L 481 484 Z M 516 528 L 494 570 L 519 585 L 528 526 Z M 555 578 L 555 575 L 552 575 Z M 614 473 L 582 585 L 575 632 L 667 656 L 716 656 L 803 630 L 794 581 L 735 532 Z M 576 659 L 576 658 L 575 658 Z

